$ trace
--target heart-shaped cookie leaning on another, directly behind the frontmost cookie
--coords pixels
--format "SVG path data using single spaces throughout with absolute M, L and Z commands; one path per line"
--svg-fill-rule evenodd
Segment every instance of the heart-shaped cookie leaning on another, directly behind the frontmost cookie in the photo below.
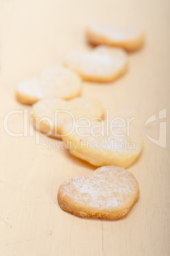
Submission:
M 142 148 L 141 134 L 135 127 L 113 127 L 104 121 L 92 122 L 89 127 L 70 124 L 62 129 L 62 140 L 69 152 L 94 166 L 129 167 Z

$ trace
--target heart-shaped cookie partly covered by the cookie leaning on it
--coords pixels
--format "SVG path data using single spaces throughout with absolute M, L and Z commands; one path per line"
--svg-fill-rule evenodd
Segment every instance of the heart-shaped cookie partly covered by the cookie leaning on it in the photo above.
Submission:
M 103 105 L 97 99 L 76 97 L 66 101 L 64 99 L 41 99 L 33 104 L 33 117 L 36 129 L 42 133 L 60 138 L 60 134 L 67 122 L 75 122 L 78 118 L 102 118 Z

